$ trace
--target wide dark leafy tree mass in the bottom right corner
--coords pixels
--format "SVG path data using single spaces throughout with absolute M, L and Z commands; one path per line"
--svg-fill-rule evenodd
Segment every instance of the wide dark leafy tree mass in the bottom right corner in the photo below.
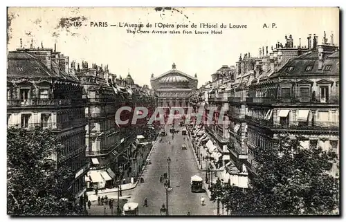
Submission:
M 255 151 L 253 189 L 232 187 L 224 194 L 232 214 L 316 215 L 338 211 L 339 182 L 329 171 L 337 156 L 321 147 L 304 149 L 300 140 L 279 136 L 277 147 Z

